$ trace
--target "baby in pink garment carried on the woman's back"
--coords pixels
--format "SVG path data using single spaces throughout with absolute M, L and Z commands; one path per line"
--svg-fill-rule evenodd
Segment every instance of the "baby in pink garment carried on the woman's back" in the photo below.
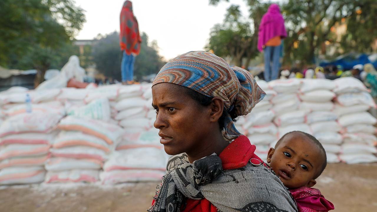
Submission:
M 334 209 L 318 189 L 311 188 L 327 164 L 325 149 L 315 137 L 301 131 L 288 132 L 270 149 L 267 162 L 290 190 L 299 212 Z

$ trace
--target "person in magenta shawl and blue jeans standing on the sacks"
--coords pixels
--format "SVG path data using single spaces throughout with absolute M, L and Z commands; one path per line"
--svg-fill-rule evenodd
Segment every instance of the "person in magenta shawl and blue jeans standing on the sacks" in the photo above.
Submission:
M 280 68 L 279 57 L 282 51 L 280 44 L 286 37 L 287 31 L 285 31 L 284 18 L 280 14 L 280 8 L 278 5 L 272 4 L 262 17 L 258 34 L 258 50 L 264 51 L 264 79 L 266 81 L 277 79 Z

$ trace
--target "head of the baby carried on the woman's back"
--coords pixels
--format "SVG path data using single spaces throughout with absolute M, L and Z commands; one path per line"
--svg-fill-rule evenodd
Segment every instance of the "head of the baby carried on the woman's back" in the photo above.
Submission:
M 268 152 L 267 162 L 289 189 L 312 187 L 326 167 L 326 152 L 310 134 L 288 132 Z

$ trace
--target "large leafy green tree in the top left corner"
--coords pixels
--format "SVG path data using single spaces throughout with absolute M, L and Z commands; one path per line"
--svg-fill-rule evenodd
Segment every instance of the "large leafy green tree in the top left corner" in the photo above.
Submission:
M 71 40 L 85 22 L 72 0 L 2 0 L 0 14 L 0 65 L 37 69 L 35 86 L 61 63 L 60 52 L 73 50 Z

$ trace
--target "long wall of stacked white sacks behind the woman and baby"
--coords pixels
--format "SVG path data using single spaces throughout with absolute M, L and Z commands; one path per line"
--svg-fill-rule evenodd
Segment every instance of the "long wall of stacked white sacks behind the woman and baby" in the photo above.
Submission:
M 282 135 L 299 130 L 323 144 L 329 162 L 377 161 L 376 119 L 367 112 L 375 103 L 357 79 L 257 83 L 267 95 L 236 127 L 262 159 Z M 168 155 L 153 127 L 150 87 L 1 92 L 0 184 L 159 180 Z

